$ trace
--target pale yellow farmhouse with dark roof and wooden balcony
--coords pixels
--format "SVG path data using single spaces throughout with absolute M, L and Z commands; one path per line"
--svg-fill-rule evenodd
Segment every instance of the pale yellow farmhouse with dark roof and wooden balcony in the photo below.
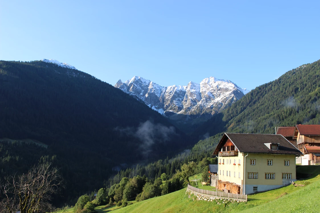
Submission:
M 302 153 L 282 135 L 224 133 L 217 148 L 217 187 L 228 193 L 268 191 L 296 180 Z

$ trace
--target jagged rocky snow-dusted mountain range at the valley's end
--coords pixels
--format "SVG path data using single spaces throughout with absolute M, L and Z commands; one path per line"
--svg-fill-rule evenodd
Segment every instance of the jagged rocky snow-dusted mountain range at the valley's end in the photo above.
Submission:
M 215 114 L 240 99 L 249 90 L 229 80 L 214 77 L 187 86 L 162 87 L 139 76 L 122 82 L 116 88 L 134 95 L 160 114 Z

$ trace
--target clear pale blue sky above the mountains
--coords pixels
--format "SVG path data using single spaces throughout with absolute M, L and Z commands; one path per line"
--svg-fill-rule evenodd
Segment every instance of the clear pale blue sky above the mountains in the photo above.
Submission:
M 320 59 L 320 1 L 0 0 L 0 59 L 56 59 L 114 85 L 206 77 L 254 89 Z

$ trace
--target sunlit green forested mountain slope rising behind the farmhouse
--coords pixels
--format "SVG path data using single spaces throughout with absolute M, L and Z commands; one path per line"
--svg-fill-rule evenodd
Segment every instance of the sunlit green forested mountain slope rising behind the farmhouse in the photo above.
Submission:
M 223 132 L 273 134 L 275 126 L 320 124 L 320 60 L 263 84 L 216 114 L 194 133 L 193 155 L 211 155 Z

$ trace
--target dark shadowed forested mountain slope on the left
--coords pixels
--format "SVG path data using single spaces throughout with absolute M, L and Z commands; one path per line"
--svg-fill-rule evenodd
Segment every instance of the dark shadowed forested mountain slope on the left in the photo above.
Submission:
M 161 114 L 76 69 L 0 61 L 1 176 L 53 162 L 65 199 L 102 185 L 113 169 L 173 155 L 189 144 Z M 3 141 L 3 140 L 2 140 Z

